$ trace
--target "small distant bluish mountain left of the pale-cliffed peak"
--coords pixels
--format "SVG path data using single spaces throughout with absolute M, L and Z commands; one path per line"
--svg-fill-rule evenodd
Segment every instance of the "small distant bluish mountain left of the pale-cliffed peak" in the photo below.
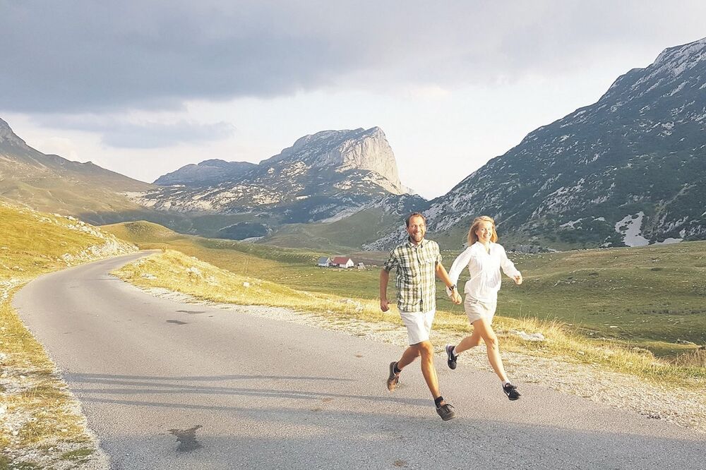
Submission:
M 225 162 L 220 159 L 205 160 L 199 164 L 188 164 L 177 171 L 160 176 L 155 184 L 170 186 L 215 186 L 224 181 L 238 179 L 257 165 L 250 162 Z

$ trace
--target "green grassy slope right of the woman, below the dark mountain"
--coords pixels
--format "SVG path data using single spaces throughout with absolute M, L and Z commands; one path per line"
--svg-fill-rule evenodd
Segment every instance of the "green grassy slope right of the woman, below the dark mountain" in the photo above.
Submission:
M 677 352 L 683 342 L 706 344 L 706 242 L 515 260 L 526 282 L 503 291 L 503 315 L 558 319 L 657 354 Z

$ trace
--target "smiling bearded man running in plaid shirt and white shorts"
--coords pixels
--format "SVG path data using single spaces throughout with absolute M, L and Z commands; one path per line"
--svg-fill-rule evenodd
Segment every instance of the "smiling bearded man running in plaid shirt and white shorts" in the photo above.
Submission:
M 436 242 L 425 240 L 426 219 L 419 212 L 407 217 L 407 234 L 404 243 L 390 251 L 390 257 L 385 261 L 380 272 L 380 308 L 383 312 L 390 310 L 388 302 L 388 281 L 390 270 L 397 269 L 397 308 L 400 317 L 407 327 L 409 347 L 405 349 L 399 361 L 390 363 L 388 390 L 393 392 L 400 382 L 400 373 L 405 366 L 421 356 L 421 373 L 426 385 L 434 397 L 436 412 L 441 419 L 447 421 L 455 417 L 453 406 L 446 403 L 439 392 L 436 368 L 434 368 L 434 350 L 429 341 L 431 323 L 436 313 L 436 281 L 438 276 L 446 284 L 452 294 L 453 303 L 461 303 L 461 296 L 456 286 L 449 279 L 446 270 L 441 265 L 441 253 Z

